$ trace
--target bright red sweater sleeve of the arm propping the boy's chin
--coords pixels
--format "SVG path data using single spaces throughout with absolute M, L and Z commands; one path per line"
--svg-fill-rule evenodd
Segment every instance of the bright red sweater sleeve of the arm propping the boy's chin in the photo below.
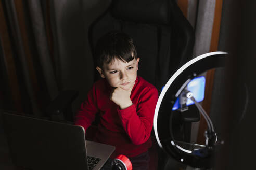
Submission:
M 123 128 L 134 145 L 143 144 L 149 139 L 157 100 L 157 89 L 148 88 L 140 98 L 137 110 L 134 104 L 128 108 L 118 110 Z

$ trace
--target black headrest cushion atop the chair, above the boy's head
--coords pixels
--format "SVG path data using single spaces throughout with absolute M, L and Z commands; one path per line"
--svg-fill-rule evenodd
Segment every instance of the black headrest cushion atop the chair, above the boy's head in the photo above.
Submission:
M 168 24 L 170 22 L 170 0 L 114 0 L 112 15 L 117 19 Z

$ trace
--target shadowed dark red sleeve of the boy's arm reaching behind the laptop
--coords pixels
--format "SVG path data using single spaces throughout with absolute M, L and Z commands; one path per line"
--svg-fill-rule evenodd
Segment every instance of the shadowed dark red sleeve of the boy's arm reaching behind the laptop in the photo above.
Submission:
M 95 86 L 88 92 L 87 99 L 81 104 L 75 115 L 75 125 L 83 126 L 85 131 L 95 119 L 95 114 L 99 111 L 96 105 Z

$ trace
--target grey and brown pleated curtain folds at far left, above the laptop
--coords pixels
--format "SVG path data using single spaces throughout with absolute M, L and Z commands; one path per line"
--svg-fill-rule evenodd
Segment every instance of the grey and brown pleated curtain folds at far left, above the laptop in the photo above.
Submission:
M 1 1 L 1 108 L 43 114 L 59 92 L 48 1 Z

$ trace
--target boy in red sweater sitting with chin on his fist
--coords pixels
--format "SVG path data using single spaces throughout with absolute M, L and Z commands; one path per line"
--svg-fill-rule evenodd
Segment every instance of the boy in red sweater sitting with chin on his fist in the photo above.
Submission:
M 94 141 L 116 146 L 111 155 L 123 154 L 133 169 L 148 169 L 150 133 L 158 100 L 157 89 L 137 76 L 137 52 L 133 40 L 122 32 L 101 37 L 95 48 L 97 71 L 102 79 L 93 84 L 75 117 L 86 129 L 99 112 Z M 103 169 L 110 166 L 108 161 Z

